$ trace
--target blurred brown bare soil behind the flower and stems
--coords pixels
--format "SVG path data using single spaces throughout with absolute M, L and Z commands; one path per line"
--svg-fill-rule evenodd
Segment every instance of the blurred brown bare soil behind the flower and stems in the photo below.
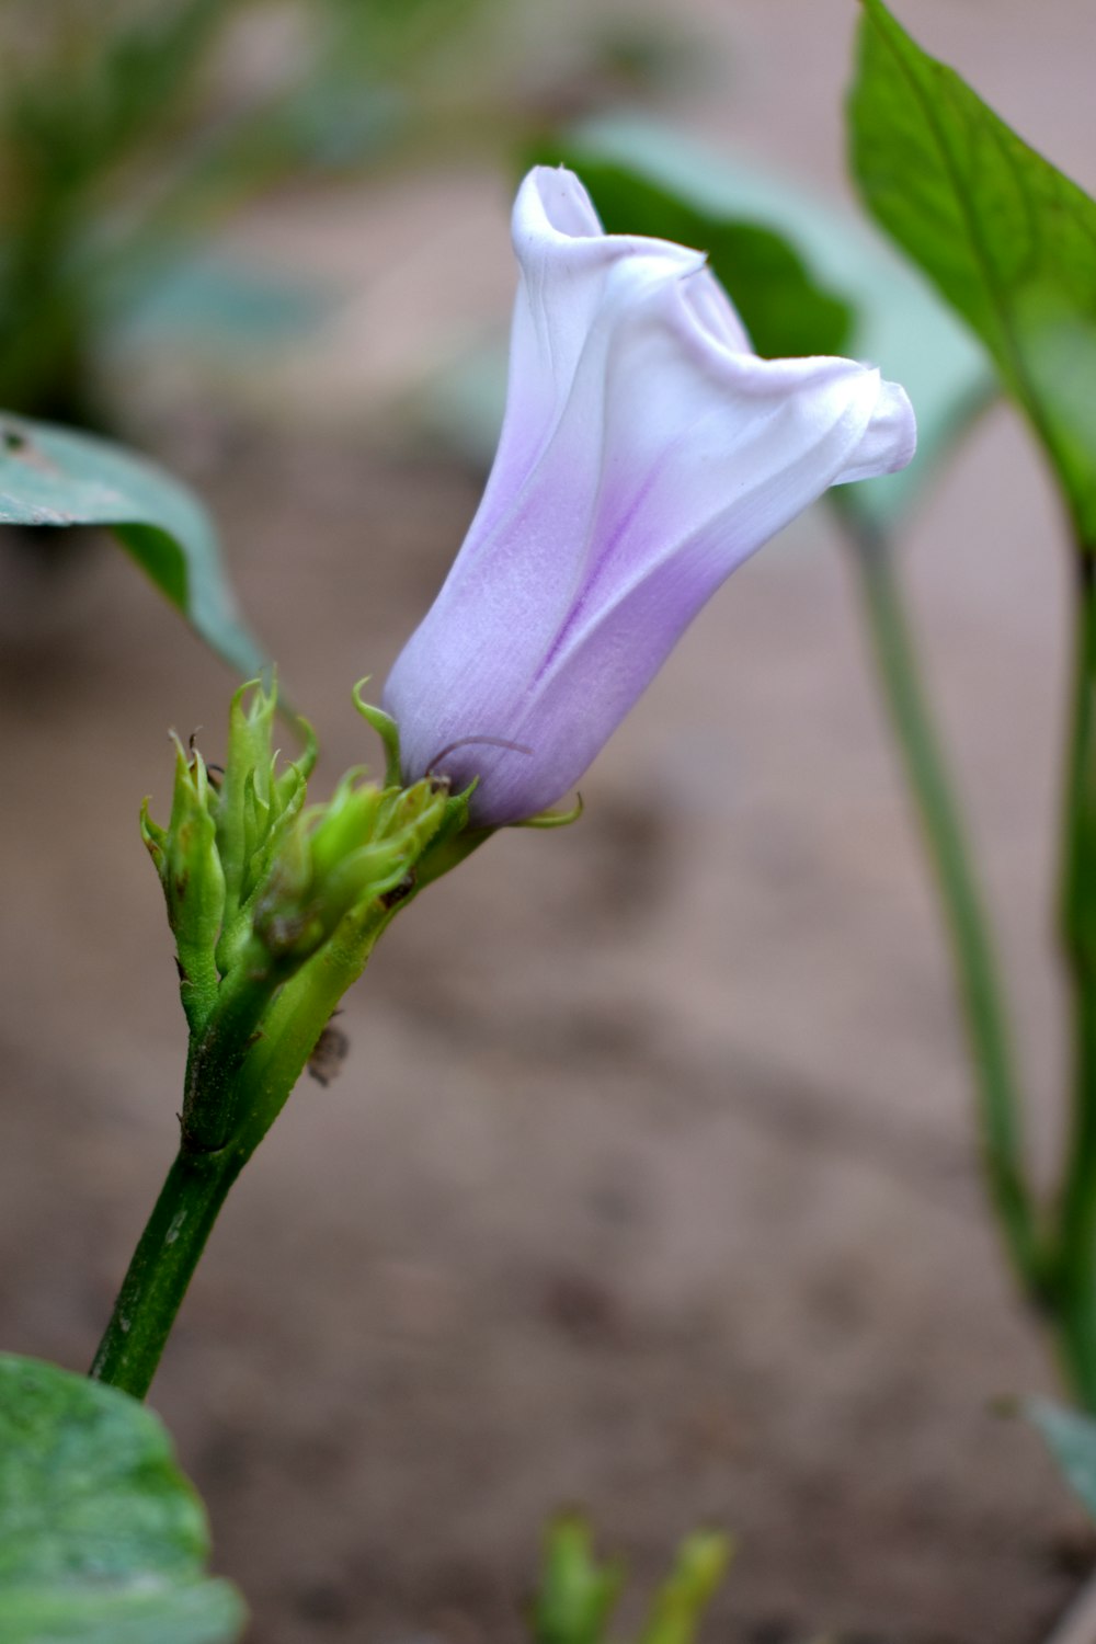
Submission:
M 736 56 L 693 128 L 836 186 L 851 7 L 695 13 Z M 905 15 L 1094 181 L 1088 8 Z M 424 202 L 447 194 L 366 196 L 361 222 L 421 222 L 427 268 Z M 460 281 L 478 324 L 509 293 L 503 191 L 468 174 L 449 197 L 493 224 L 481 283 Z M 302 260 L 345 268 L 345 196 L 248 235 L 289 256 L 306 219 Z M 312 409 L 324 358 L 299 378 Z M 383 679 L 475 483 L 294 409 L 197 406 L 163 442 L 214 501 L 332 781 L 373 751 L 350 686 Z M 1045 1162 L 1058 536 L 999 411 L 905 549 Z M 169 723 L 217 756 L 228 681 L 120 556 L 66 585 L 67 625 L 0 656 L 0 1315 L 5 1345 L 79 1368 L 168 1164 L 182 1060 L 136 804 L 166 806 Z M 302 1083 L 187 1300 L 154 1402 L 255 1644 L 509 1644 L 539 1524 L 573 1501 L 647 1583 L 697 1521 L 733 1527 L 713 1639 L 1034 1644 L 1089 1549 L 991 1411 L 1050 1371 L 986 1226 L 945 955 L 825 513 L 738 574 L 583 786 L 582 825 L 491 842 L 396 924 L 342 1019 L 342 1077 Z

